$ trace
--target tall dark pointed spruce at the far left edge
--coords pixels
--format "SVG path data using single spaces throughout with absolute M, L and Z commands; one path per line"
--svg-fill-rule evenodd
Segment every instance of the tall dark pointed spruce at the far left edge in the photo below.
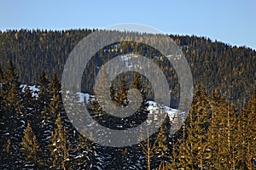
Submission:
M 1 140 L 6 143 L 10 139 L 11 147 L 18 147 L 19 137 L 24 129 L 24 114 L 21 110 L 21 89 L 15 66 L 9 60 L 8 71 L 4 74 L 2 86 L 4 127 L 1 129 Z M 13 151 L 13 161 L 20 162 L 18 150 Z

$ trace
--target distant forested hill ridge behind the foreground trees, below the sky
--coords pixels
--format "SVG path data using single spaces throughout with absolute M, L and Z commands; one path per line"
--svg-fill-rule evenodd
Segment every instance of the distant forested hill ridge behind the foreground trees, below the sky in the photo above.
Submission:
M 77 43 L 91 32 L 96 30 L 67 30 L 67 31 L 46 31 L 46 30 L 10 30 L 0 32 L 0 62 L 3 71 L 7 70 L 9 59 L 16 65 L 19 73 L 19 81 L 22 83 L 36 84 L 40 74 L 45 71 L 51 79 L 54 72 L 61 77 L 65 62 Z M 134 37 L 141 37 L 142 34 L 134 32 Z M 161 43 L 156 35 L 148 35 L 145 41 L 155 44 Z M 223 42 L 212 42 L 206 37 L 189 37 L 170 35 L 177 45 L 183 48 L 183 54 L 189 62 L 195 85 L 201 85 L 210 93 L 218 88 L 225 99 L 233 100 L 238 110 L 245 105 L 249 96 L 255 89 L 256 77 L 256 52 L 251 48 L 232 47 Z M 102 41 L 109 37 L 101 37 Z M 138 38 L 139 39 L 139 38 Z M 159 63 L 160 69 L 166 74 L 172 89 L 172 107 L 177 108 L 178 86 L 177 75 L 172 65 L 160 63 L 160 52 L 150 48 L 147 44 L 137 42 L 115 42 L 104 47 L 91 59 L 92 65 L 84 69 L 84 83 L 82 90 L 86 93 L 93 93 L 92 84 L 99 68 L 109 59 L 127 53 L 142 54 L 154 59 Z M 171 41 L 166 38 L 166 42 Z M 84 65 L 85 66 L 85 65 Z M 150 91 L 148 96 L 152 97 Z

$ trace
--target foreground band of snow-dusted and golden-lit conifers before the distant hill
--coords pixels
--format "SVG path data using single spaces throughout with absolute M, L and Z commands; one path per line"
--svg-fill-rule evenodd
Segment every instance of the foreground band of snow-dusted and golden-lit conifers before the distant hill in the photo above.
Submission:
M 26 86 L 22 92 L 15 66 L 9 62 L 7 71 L 0 69 L 0 82 L 1 169 L 256 168 L 256 94 L 237 111 L 218 88 L 207 95 L 197 86 L 189 116 L 177 133 L 168 133 L 176 122 L 167 116 L 159 131 L 140 144 L 111 148 L 85 139 L 69 122 L 56 75 L 49 81 L 42 71 L 40 91 L 32 93 Z M 117 105 L 126 105 L 124 94 L 130 84 L 124 78 L 118 83 L 112 98 Z M 147 88 L 141 86 L 139 76 L 131 86 Z M 98 121 L 106 116 L 96 100 L 87 107 Z M 146 107 L 143 103 L 138 115 L 147 116 Z

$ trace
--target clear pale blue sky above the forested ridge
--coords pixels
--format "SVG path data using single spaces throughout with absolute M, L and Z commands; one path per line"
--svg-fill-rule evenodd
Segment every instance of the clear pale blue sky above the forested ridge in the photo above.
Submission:
M 153 26 L 169 34 L 210 37 L 256 49 L 255 0 L 0 0 L 0 30 Z

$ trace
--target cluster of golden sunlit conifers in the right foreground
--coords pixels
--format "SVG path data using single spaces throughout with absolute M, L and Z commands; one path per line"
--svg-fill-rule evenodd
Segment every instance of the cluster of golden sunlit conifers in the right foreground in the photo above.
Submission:
M 218 89 L 198 87 L 173 145 L 171 169 L 255 169 L 256 94 L 241 111 Z

